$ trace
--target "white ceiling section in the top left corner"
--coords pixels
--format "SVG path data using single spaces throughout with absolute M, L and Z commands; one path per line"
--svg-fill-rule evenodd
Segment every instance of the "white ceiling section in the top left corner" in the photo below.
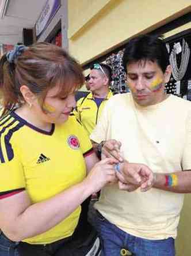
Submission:
M 46 1 L 9 0 L 5 17 L 0 19 L 0 44 L 22 42 L 22 29 L 34 27 Z

